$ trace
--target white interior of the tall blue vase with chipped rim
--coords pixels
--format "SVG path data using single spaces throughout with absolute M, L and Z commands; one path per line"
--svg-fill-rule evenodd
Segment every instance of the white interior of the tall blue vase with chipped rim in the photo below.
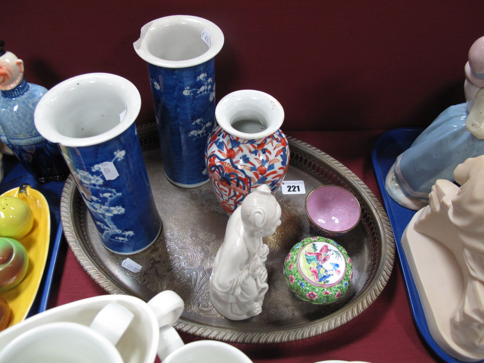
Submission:
M 180 23 L 154 28 L 147 34 L 148 51 L 166 61 L 186 61 L 197 58 L 209 50 L 198 23 Z M 148 36 L 149 35 L 149 36 Z

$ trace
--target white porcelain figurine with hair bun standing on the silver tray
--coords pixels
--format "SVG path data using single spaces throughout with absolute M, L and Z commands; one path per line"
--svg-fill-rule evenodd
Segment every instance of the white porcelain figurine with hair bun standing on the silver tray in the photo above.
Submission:
M 262 237 L 274 233 L 280 218 L 281 207 L 271 189 L 260 185 L 228 219 L 210 279 L 210 299 L 224 317 L 242 320 L 261 312 L 269 287 L 265 267 L 269 248 Z

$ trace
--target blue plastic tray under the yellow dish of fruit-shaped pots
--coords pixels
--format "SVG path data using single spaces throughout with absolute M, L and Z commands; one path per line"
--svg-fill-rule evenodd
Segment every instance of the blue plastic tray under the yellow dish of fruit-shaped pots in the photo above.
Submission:
M 41 192 L 50 211 L 50 243 L 45 271 L 35 297 L 32 307 L 27 317 L 41 313 L 47 309 L 47 303 L 52 287 L 55 267 L 59 257 L 61 240 L 64 238 L 61 227 L 61 216 L 59 206 L 61 204 L 61 194 L 64 182 L 51 181 L 47 184 L 39 184 L 17 161 L 15 156 L 3 155 L 3 174 L 4 178 L 0 183 L 0 194 L 7 190 L 19 187 L 22 183 L 29 183 L 33 189 Z

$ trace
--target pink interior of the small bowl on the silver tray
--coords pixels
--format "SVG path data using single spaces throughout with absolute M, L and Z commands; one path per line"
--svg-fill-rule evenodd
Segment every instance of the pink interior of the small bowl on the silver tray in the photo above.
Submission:
M 307 198 L 306 211 L 313 222 L 328 231 L 341 232 L 360 221 L 360 205 L 346 189 L 325 185 Z

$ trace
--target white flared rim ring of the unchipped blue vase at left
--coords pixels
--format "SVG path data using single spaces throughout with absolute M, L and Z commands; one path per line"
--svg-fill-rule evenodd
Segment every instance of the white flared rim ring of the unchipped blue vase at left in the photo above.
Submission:
M 79 81 L 90 79 L 103 81 L 105 84 L 117 87 L 125 94 L 123 101 L 126 104 L 126 114 L 122 120 L 113 128 L 96 136 L 90 137 L 70 137 L 62 135 L 53 127 L 51 118 L 52 103 L 65 91 L 79 86 Z M 83 82 L 82 85 L 90 85 L 91 82 Z M 84 87 L 86 87 L 84 86 Z M 89 86 L 87 86 L 89 87 Z M 83 147 L 97 145 L 116 136 L 121 135 L 135 121 L 141 109 L 141 96 L 136 86 L 124 77 L 110 73 L 87 73 L 68 78 L 48 90 L 41 98 L 34 112 L 34 123 L 37 131 L 50 142 L 61 144 L 67 147 Z

